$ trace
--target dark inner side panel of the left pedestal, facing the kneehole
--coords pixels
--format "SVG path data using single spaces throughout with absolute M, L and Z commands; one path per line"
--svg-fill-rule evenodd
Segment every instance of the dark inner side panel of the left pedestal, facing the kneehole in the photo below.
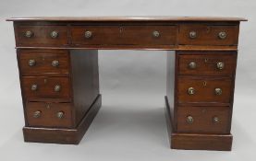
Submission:
M 98 51 L 70 51 L 72 64 L 73 98 L 77 124 L 99 95 Z

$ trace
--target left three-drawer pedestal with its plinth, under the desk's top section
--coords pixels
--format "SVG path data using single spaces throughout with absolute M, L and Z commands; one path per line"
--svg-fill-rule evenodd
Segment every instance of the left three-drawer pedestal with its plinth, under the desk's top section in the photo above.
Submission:
M 101 107 L 98 52 L 18 49 L 26 142 L 79 144 Z

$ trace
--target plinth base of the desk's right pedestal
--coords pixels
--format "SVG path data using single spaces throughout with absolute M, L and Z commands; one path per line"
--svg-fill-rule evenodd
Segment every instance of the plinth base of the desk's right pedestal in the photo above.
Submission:
M 232 134 L 174 132 L 167 97 L 165 97 L 165 116 L 167 122 L 169 141 L 172 149 L 221 151 L 231 150 L 233 140 Z

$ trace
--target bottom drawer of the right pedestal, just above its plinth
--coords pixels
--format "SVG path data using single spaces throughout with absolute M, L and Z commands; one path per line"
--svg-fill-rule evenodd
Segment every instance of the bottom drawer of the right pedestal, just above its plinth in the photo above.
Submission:
M 178 107 L 177 132 L 229 133 L 229 107 Z

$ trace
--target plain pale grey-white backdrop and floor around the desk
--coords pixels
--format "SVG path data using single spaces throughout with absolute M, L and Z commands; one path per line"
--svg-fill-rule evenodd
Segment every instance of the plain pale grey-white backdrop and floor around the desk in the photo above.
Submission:
M 253 160 L 256 154 L 254 0 L 1 0 L 0 160 Z M 26 144 L 15 39 L 7 17 L 246 17 L 239 36 L 231 152 L 168 149 L 165 52 L 100 51 L 103 107 L 79 145 Z

